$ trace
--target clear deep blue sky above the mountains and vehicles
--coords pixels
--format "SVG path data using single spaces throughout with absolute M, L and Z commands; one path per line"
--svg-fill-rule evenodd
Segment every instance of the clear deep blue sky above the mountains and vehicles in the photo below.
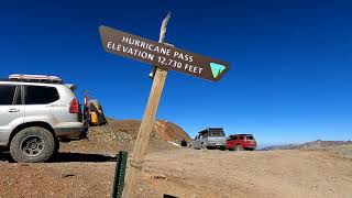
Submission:
M 103 24 L 223 59 L 211 82 L 169 72 L 157 118 L 262 144 L 352 139 L 352 2 L 11 1 L 0 7 L 0 76 L 51 74 L 88 89 L 106 114 L 141 119 L 150 65 L 103 52 Z

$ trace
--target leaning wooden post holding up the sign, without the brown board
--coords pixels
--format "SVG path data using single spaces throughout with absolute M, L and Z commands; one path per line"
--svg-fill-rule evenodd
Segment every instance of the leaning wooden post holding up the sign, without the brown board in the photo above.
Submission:
M 163 20 L 162 28 L 161 28 L 161 35 L 158 38 L 160 43 L 164 43 L 165 41 L 166 26 L 169 18 L 170 18 L 170 13 L 168 13 L 166 18 Z M 147 103 L 146 103 L 143 120 L 140 127 L 139 135 L 134 144 L 132 158 L 128 163 L 127 183 L 125 183 L 123 196 L 122 196 L 124 198 L 135 197 L 138 180 L 142 172 L 147 144 L 150 142 L 150 135 L 154 127 L 154 120 L 155 120 L 158 103 L 161 101 L 166 76 L 167 76 L 167 70 L 163 70 L 156 67 L 150 98 L 147 99 Z

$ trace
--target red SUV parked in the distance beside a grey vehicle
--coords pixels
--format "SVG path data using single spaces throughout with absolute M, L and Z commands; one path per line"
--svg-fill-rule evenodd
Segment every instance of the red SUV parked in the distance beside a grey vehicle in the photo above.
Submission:
M 256 141 L 252 134 L 232 134 L 227 139 L 227 150 L 253 151 L 256 147 Z

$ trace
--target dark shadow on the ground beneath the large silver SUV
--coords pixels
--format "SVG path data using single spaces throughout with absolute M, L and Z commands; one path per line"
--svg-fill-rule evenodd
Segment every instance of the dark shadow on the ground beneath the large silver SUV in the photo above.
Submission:
M 90 162 L 90 163 L 102 163 L 102 162 L 116 162 L 117 157 L 102 155 L 102 154 L 89 154 L 89 153 L 58 153 L 50 163 L 70 163 L 70 162 Z M 1 152 L 0 162 L 13 163 L 10 153 Z

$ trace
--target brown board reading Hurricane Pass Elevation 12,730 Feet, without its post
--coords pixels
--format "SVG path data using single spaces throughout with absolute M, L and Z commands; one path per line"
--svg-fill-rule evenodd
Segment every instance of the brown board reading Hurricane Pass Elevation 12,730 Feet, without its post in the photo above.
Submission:
M 138 35 L 101 25 L 101 43 L 106 52 L 176 70 L 211 81 L 220 80 L 229 63 L 157 43 Z

